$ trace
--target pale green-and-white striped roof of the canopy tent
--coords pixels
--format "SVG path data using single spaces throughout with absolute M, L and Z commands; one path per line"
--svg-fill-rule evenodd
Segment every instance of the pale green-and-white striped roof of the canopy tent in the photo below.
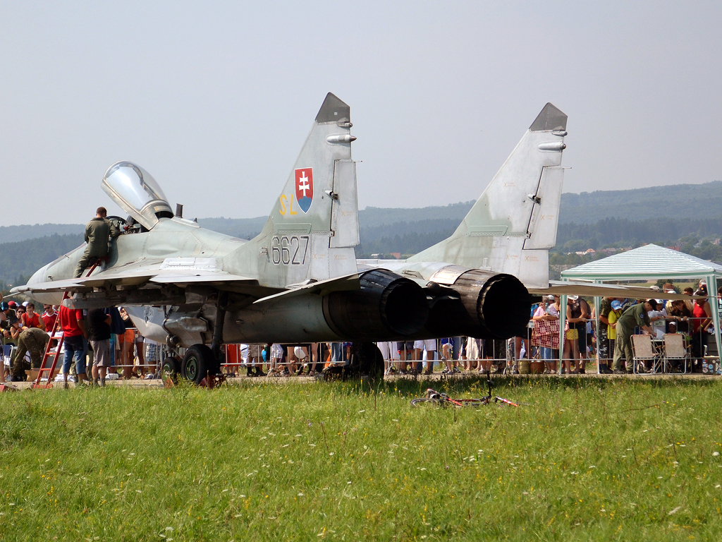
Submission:
M 722 277 L 722 265 L 664 246 L 648 244 L 562 271 L 562 279 L 639 280 Z

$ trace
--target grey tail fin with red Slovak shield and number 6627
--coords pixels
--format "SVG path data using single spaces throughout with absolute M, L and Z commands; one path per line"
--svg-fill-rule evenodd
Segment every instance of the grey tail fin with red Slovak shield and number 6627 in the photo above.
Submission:
M 259 276 L 285 287 L 356 272 L 359 243 L 350 108 L 329 93 L 261 234 Z

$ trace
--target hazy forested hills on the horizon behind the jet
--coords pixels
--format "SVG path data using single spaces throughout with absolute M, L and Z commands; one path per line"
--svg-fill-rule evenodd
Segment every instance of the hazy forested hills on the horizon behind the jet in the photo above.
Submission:
M 359 211 L 361 243 L 357 257 L 415 254 L 453 233 L 473 201 L 409 208 L 366 207 Z M 674 210 L 682 212 L 675 213 Z M 692 216 L 694 210 L 694 218 Z M 200 218 L 219 233 L 249 239 L 267 217 Z M 7 282 L 82 243 L 82 224 L 0 227 L 0 277 Z M 677 244 L 705 259 L 722 259 L 722 181 L 562 194 L 554 251 L 583 251 L 642 243 Z

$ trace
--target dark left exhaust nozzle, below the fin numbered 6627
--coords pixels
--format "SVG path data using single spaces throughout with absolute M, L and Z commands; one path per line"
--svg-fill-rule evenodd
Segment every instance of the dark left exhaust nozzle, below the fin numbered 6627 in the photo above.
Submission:
M 429 307 L 423 288 L 391 271 L 360 275 L 361 289 L 324 298 L 323 316 L 334 332 L 354 340 L 392 340 L 424 327 Z

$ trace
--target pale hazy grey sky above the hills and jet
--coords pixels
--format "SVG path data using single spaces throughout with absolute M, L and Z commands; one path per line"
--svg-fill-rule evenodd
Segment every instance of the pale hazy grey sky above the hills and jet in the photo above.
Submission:
M 265 215 L 329 91 L 362 208 L 476 199 L 547 101 L 565 192 L 722 179 L 721 4 L 591 4 L 2 2 L 0 225 L 84 223 L 117 160 Z

